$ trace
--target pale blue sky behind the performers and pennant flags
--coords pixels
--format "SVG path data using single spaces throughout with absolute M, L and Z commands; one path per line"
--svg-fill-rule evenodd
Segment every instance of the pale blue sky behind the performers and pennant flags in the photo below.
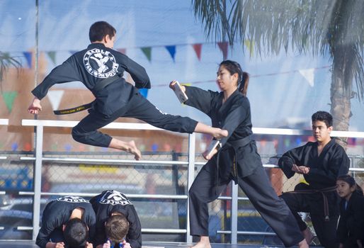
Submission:
M 22 55 L 35 46 L 35 1 L 0 1 L 0 50 Z M 89 44 L 89 26 L 108 21 L 118 30 L 115 48 L 126 48 L 127 55 L 147 69 L 152 80 L 148 99 L 162 111 L 188 115 L 209 123 L 206 115 L 181 106 L 167 84 L 172 79 L 203 89 L 217 90 L 214 82 L 222 52 L 205 38 L 203 26 L 195 16 L 189 0 L 142 1 L 45 1 L 39 0 L 39 50 L 56 52 L 56 64 L 69 57 L 70 50 Z M 191 45 L 203 43 L 201 59 Z M 175 61 L 164 46 L 176 45 Z M 152 47 L 152 60 L 140 50 Z M 255 127 L 278 128 L 304 121 L 309 128 L 312 113 L 329 111 L 331 84 L 329 57 L 284 53 L 274 57 L 249 57 L 237 44 L 229 48 L 228 58 L 237 60 L 251 74 L 249 99 Z M 49 60 L 49 58 L 48 58 Z M 47 71 L 55 65 L 48 62 Z M 298 71 L 314 71 L 314 86 Z M 33 83 L 33 82 L 31 82 Z M 78 84 L 70 84 L 78 87 Z M 76 104 L 76 103 L 75 103 Z M 364 103 L 352 100 L 350 130 L 364 131 Z

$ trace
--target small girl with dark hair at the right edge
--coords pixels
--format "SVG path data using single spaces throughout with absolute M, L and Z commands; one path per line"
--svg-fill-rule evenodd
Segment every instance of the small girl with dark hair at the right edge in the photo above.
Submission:
M 363 190 L 350 175 L 339 176 L 336 191 L 341 197 L 340 220 L 336 230 L 339 248 L 363 247 Z

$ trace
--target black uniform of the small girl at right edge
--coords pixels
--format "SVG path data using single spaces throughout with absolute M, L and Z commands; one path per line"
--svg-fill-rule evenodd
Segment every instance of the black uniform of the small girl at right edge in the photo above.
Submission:
M 343 248 L 358 247 L 357 240 L 364 244 L 364 197 L 354 192 L 349 201 L 340 202 L 340 220 L 336 230 L 337 240 Z

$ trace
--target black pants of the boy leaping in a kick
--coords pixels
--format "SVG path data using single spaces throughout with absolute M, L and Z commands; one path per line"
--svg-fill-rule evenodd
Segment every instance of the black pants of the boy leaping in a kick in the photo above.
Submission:
M 137 118 L 157 128 L 179 133 L 193 133 L 197 125 L 197 121 L 191 118 L 163 113 L 146 98 L 140 94 L 135 94 L 125 107 L 120 108 L 111 116 L 91 110 L 89 115 L 72 129 L 72 137 L 74 140 L 87 145 L 108 147 L 112 137 L 99 132 L 98 129 L 112 123 L 119 117 Z

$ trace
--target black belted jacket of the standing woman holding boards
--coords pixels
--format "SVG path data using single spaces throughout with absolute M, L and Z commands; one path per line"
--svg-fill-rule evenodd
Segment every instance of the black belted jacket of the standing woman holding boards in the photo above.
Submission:
M 233 145 L 234 142 L 249 137 L 251 131 L 250 103 L 246 96 L 238 90 L 222 103 L 223 92 L 205 91 L 193 86 L 186 86 L 188 100 L 186 105 L 193 106 L 207 114 L 212 120 L 212 126 L 227 130 L 229 135 L 221 139 L 219 174 L 221 184 L 230 179 L 251 175 L 258 166 L 262 166 L 261 157 L 256 149 L 256 142 Z M 233 163 L 234 157 L 237 167 Z M 217 159 L 215 155 L 212 159 Z M 233 178 L 229 177 L 229 175 Z

